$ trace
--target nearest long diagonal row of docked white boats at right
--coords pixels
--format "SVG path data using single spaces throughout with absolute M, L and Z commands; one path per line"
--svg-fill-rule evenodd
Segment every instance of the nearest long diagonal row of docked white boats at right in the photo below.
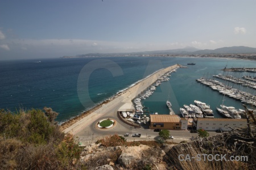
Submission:
M 256 106 L 256 96 L 248 92 L 240 91 L 236 88 L 232 88 L 213 79 L 200 78 L 197 79 L 197 82 L 205 84 L 206 86 L 209 86 L 210 88 L 220 92 L 221 94 L 224 94 L 237 100 L 241 100 L 242 103 L 247 103 Z

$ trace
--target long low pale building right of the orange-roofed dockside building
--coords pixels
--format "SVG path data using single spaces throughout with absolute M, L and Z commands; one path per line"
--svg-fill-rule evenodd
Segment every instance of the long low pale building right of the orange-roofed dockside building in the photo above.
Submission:
M 245 118 L 197 118 L 194 122 L 196 124 L 196 130 L 215 131 L 222 129 L 223 131 L 230 131 L 232 129 L 228 128 L 228 126 L 231 128 L 247 127 L 247 120 Z

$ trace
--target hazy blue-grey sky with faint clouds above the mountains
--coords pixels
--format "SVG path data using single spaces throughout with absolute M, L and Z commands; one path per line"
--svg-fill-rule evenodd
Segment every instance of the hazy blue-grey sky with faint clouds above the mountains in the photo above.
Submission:
M 255 0 L 0 0 L 0 60 L 256 48 Z

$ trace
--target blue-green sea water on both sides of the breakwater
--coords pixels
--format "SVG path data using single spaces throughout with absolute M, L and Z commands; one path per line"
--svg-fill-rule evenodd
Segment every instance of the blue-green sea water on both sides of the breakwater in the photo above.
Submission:
M 187 65 L 195 62 L 196 65 Z M 222 104 L 243 108 L 238 100 L 225 97 L 211 88 L 196 82 L 204 76 L 225 74 L 241 78 L 256 73 L 224 72 L 224 67 L 256 67 L 256 61 L 225 58 L 191 57 L 97 57 L 54 58 L 0 61 L 0 108 L 16 112 L 19 108 L 51 107 L 59 113 L 57 121 L 69 118 L 94 107 L 156 70 L 179 63 L 188 66 L 172 73 L 153 95 L 143 100 L 150 112 L 168 114 L 166 100 L 179 114 L 184 104 L 200 100 L 210 105 L 215 117 L 221 117 L 216 107 Z M 218 80 L 218 79 L 217 79 Z M 222 80 L 220 80 L 223 82 Z M 230 82 L 229 86 L 256 95 L 255 90 Z M 150 84 L 148 84 L 150 85 Z

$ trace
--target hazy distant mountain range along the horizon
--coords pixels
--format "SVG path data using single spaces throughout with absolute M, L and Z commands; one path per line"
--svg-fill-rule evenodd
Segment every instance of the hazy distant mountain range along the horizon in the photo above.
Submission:
M 214 50 L 210 49 L 197 49 L 192 46 L 187 46 L 181 49 L 171 49 L 171 50 L 156 50 L 147 52 L 133 52 L 133 53 L 89 53 L 80 54 L 76 57 L 86 57 L 86 56 L 124 56 L 124 55 L 157 55 L 157 54 L 176 54 L 176 55 L 204 55 L 204 54 L 256 54 L 256 48 L 251 48 L 248 46 L 230 46 L 217 48 Z M 64 56 L 63 58 L 71 58 Z

